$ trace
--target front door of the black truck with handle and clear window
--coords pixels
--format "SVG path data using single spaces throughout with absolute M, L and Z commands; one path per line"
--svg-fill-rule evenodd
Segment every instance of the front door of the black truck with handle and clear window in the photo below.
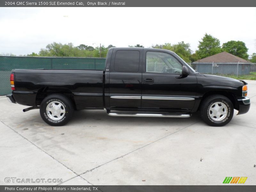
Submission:
M 144 51 L 142 109 L 192 110 L 196 98 L 195 74 L 179 78 L 182 62 L 174 54 Z

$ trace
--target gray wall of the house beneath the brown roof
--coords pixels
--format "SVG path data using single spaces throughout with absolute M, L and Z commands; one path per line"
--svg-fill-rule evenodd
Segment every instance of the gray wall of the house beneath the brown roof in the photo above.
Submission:
M 191 66 L 200 73 L 208 74 L 234 74 L 237 73 L 237 63 L 213 63 L 216 67 L 212 67 L 212 63 L 191 63 Z M 238 75 L 250 74 L 250 63 L 238 64 Z

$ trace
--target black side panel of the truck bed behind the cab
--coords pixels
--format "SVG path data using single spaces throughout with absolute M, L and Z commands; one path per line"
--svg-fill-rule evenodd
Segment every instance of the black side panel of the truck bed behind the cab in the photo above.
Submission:
M 103 108 L 104 70 L 14 69 L 13 97 L 17 103 L 38 106 L 42 92 L 72 94 L 77 109 Z

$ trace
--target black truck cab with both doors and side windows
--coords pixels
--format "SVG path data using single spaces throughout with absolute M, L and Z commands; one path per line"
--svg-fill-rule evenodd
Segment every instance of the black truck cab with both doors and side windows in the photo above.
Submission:
M 185 66 L 175 53 L 149 48 L 112 48 L 108 57 L 106 108 L 185 114 L 192 111 L 196 72 Z M 182 74 L 183 66 L 186 74 Z

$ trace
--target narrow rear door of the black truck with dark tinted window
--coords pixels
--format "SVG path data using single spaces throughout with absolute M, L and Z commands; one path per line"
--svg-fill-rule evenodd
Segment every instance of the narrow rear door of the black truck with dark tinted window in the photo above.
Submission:
M 141 108 L 143 49 L 117 49 L 109 69 L 110 109 Z

